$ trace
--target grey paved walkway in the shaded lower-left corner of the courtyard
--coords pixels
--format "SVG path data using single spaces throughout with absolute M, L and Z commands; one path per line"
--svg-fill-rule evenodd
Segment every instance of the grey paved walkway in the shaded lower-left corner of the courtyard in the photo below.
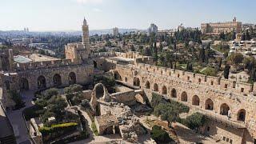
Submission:
M 26 107 L 33 106 L 31 101 L 34 98 L 34 93 L 32 91 L 26 91 L 22 93 L 23 102 L 26 102 Z M 11 125 L 14 128 L 14 134 L 16 136 L 17 143 L 31 143 L 30 135 L 26 129 L 26 123 L 24 122 L 22 116 L 22 110 L 26 107 L 23 107 L 20 110 L 8 110 L 6 114 L 10 120 Z

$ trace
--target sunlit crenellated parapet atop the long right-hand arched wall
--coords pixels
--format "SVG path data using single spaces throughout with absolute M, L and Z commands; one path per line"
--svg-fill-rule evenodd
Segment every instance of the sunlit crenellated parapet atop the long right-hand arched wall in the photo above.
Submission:
M 178 78 L 183 81 L 196 83 L 198 85 L 210 86 L 215 89 L 225 90 L 234 94 L 242 94 L 243 96 L 247 96 L 254 91 L 254 85 L 246 82 L 236 82 L 226 78 L 195 74 L 185 70 L 174 70 L 161 66 L 152 66 L 145 63 L 137 63 L 135 67 L 142 71 L 159 74 L 166 77 Z

